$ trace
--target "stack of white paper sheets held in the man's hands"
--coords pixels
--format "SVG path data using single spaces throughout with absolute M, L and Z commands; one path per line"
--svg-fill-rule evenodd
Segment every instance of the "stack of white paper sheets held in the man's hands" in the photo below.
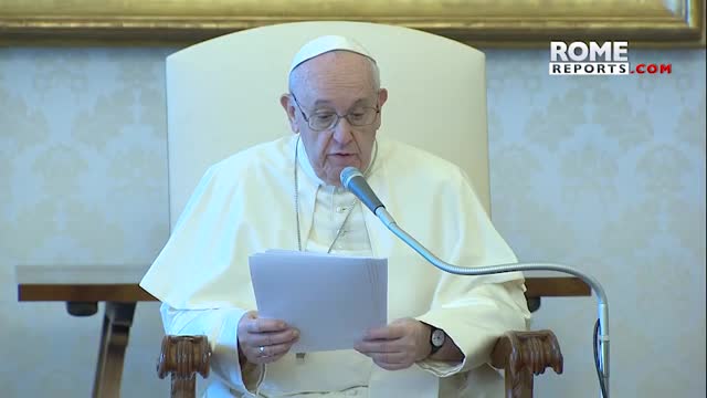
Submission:
M 388 323 L 388 260 L 270 250 L 250 256 L 260 317 L 299 329 L 291 353 L 350 349 Z

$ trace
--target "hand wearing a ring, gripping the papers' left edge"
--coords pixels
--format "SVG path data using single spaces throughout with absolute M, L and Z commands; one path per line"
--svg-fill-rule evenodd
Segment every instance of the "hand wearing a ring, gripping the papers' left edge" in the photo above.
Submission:
M 239 358 L 251 364 L 268 364 L 283 357 L 297 342 L 299 331 L 281 320 L 257 317 L 251 311 L 239 322 Z

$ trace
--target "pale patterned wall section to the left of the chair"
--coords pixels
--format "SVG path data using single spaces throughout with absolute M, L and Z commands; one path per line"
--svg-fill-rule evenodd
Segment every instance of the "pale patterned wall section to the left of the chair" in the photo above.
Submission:
M 89 397 L 101 318 L 17 302 L 14 264 L 149 264 L 168 237 L 167 49 L 0 50 L 0 397 Z M 167 397 L 156 304 L 125 397 Z

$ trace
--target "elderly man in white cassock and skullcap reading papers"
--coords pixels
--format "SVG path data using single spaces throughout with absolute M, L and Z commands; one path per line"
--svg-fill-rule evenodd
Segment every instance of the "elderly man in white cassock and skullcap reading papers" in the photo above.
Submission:
M 140 285 L 162 302 L 167 334 L 209 337 L 207 397 L 504 395 L 488 360 L 504 332 L 527 327 L 523 274 L 441 272 L 340 186 L 341 169 L 362 170 L 395 220 L 447 262 L 516 262 L 458 167 L 379 137 L 387 98 L 359 43 L 315 39 L 279 98 L 295 134 L 201 179 Z M 297 357 L 299 331 L 254 311 L 247 258 L 274 248 L 387 258 L 389 324 L 360 331 L 351 349 Z

